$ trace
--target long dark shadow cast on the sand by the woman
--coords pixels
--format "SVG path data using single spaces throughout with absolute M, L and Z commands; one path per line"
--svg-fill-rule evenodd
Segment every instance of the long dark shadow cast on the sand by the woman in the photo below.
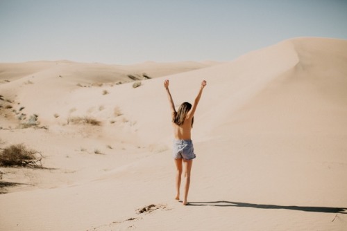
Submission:
M 266 210 L 298 210 L 304 212 L 327 212 L 347 214 L 346 207 L 310 207 L 310 206 L 285 206 L 285 205 L 261 205 L 232 201 L 208 201 L 208 202 L 189 202 L 190 206 L 217 206 L 217 207 L 255 207 Z

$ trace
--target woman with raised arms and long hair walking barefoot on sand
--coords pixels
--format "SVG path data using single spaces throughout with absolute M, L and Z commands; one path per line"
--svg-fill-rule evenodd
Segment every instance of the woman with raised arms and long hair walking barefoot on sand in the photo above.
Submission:
M 196 157 L 194 154 L 194 147 L 191 138 L 191 131 L 194 122 L 194 113 L 198 102 L 203 93 L 203 88 L 206 86 L 206 81 L 201 82 L 200 90 L 194 100 L 194 104 L 184 102 L 178 108 L 175 109 L 174 100 L 172 100 L 171 93 L 169 91 L 169 80 L 164 81 L 164 87 L 167 91 L 167 97 L 169 99 L 171 109 L 172 127 L 174 127 L 174 148 L 173 157 L 176 164 L 176 200 L 180 199 L 180 181 L 184 170 L 185 176 L 185 196 L 183 199 L 183 205 L 187 205 L 187 197 L 190 184 L 190 172 L 192 169 L 193 159 Z

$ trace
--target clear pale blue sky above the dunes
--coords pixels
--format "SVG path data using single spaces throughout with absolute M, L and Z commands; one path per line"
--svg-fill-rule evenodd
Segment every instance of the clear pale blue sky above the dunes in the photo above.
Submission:
M 0 62 L 230 61 L 284 39 L 347 39 L 347 0 L 0 0 Z

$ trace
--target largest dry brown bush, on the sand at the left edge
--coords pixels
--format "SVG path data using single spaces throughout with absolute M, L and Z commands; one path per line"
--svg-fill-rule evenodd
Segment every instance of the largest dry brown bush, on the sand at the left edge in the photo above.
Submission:
M 35 151 L 26 149 L 22 144 L 10 145 L 0 153 L 0 165 L 19 166 L 23 165 L 25 160 L 34 160 Z

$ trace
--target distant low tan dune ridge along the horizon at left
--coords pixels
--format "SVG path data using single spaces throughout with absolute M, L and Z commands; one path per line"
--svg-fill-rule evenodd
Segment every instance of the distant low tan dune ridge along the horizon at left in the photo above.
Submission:
M 36 74 L 46 76 L 58 74 L 58 76 L 68 77 L 69 82 L 81 80 L 90 84 L 130 82 L 128 75 L 133 75 L 139 79 L 146 77 L 160 77 L 185 71 L 193 71 L 205 68 L 219 62 L 175 62 L 157 63 L 144 62 L 133 65 L 108 65 L 90 63 L 83 64 L 67 60 L 61 61 L 41 61 L 26 63 L 3 63 L 0 64 L 0 81 L 15 81 L 24 77 L 35 77 Z M 144 76 L 145 75 L 145 76 Z M 53 77 L 53 76 L 51 76 Z M 67 81 L 67 80 L 66 80 Z

